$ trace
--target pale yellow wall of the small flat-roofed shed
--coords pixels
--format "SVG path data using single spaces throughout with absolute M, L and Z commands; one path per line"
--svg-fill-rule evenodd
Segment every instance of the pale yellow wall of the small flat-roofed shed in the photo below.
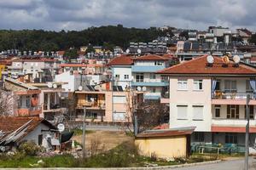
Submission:
M 155 154 L 159 158 L 170 159 L 173 157 L 185 157 L 187 149 L 186 136 L 138 138 L 135 144 L 143 156 Z

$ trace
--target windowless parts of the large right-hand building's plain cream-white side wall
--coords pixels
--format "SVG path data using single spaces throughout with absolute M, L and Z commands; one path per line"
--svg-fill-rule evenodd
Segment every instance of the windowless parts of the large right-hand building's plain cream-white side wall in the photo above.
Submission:
M 177 80 L 188 80 L 188 90 L 177 90 Z M 195 91 L 193 80 L 203 79 L 203 89 Z M 187 118 L 177 119 L 177 105 L 188 105 Z M 193 105 L 203 105 L 203 120 L 193 120 Z M 211 79 L 209 77 L 170 77 L 170 127 L 195 126 L 195 131 L 211 131 Z

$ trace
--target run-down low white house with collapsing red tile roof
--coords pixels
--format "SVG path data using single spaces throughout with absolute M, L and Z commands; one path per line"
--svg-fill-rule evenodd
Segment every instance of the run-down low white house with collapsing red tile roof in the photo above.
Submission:
M 0 116 L 0 146 L 13 150 L 25 141 L 33 141 L 46 150 L 60 148 L 59 133 L 50 122 L 39 117 Z

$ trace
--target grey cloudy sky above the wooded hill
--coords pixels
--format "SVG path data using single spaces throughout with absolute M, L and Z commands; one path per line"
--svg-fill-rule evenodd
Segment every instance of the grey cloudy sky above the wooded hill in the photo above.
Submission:
M 0 29 L 207 26 L 256 29 L 255 0 L 0 0 Z

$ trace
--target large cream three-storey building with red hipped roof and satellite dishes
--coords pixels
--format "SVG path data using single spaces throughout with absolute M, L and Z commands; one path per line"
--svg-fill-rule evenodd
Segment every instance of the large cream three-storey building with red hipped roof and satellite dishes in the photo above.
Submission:
M 174 65 L 161 75 L 170 78 L 170 127 L 195 126 L 192 142 L 244 145 L 246 96 L 250 94 L 250 135 L 256 137 L 256 69 L 207 56 Z

